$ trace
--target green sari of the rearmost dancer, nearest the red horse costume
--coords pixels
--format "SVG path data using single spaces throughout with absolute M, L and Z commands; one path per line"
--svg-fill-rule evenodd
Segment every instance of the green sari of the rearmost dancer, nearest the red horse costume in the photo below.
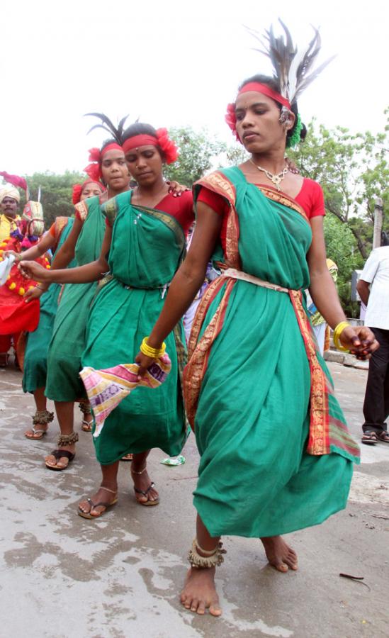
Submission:
M 58 234 L 57 250 L 67 239 L 74 218 L 58 217 L 55 220 L 55 232 Z M 55 254 L 54 252 L 54 254 Z M 68 268 L 76 265 L 73 260 Z M 58 308 L 58 298 L 60 296 L 62 286 L 60 284 L 51 284 L 47 292 L 40 297 L 40 317 L 38 328 L 34 332 L 26 333 L 26 345 L 23 363 L 23 392 L 33 393 L 37 388 L 44 388 L 46 385 L 47 375 L 47 351 L 49 349 L 50 339 L 52 336 L 52 328 L 55 320 L 55 313 Z

